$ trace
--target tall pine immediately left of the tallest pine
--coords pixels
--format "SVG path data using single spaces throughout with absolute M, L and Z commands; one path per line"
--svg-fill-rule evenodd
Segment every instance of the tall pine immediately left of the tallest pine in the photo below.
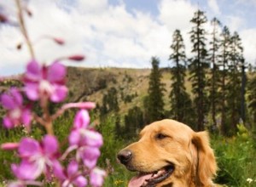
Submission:
M 189 124 L 191 100 L 184 86 L 186 77 L 186 55 L 183 37 L 179 30 L 174 31 L 172 36 L 172 91 L 169 95 L 171 100 L 171 116 L 173 119 Z

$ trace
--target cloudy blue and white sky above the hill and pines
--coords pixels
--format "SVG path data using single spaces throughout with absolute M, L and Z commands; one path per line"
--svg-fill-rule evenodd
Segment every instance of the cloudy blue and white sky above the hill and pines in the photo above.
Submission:
M 15 20 L 15 1 L 0 0 L 0 13 Z M 83 67 L 149 68 L 150 59 L 160 59 L 160 66 L 172 66 L 172 33 L 183 35 L 186 54 L 191 57 L 189 31 L 195 11 L 215 16 L 238 31 L 244 57 L 256 59 L 256 0 L 26 0 L 32 17 L 25 16 L 26 28 L 36 59 L 49 64 L 72 54 L 84 54 L 81 63 L 62 61 L 64 65 Z M 211 32 L 211 25 L 206 29 Z M 64 46 L 49 37 L 62 38 Z M 0 76 L 25 71 L 30 54 L 24 46 L 19 27 L 0 25 Z

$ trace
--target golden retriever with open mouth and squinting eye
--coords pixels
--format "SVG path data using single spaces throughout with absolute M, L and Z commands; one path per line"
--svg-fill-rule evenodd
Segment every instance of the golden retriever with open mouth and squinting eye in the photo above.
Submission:
M 119 161 L 137 172 L 129 187 L 213 187 L 217 164 L 207 132 L 174 120 L 153 122 L 120 150 Z

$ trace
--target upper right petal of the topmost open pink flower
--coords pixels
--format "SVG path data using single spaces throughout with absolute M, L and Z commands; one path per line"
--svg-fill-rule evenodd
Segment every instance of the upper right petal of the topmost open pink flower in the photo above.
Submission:
M 66 77 L 66 67 L 58 62 L 49 65 L 47 80 L 51 83 L 64 82 Z

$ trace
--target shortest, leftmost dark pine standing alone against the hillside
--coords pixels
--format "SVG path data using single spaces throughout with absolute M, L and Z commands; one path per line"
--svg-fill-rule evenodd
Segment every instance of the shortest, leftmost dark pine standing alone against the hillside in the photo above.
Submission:
M 161 73 L 159 69 L 159 59 L 151 59 L 152 70 L 149 76 L 148 87 L 148 114 L 149 122 L 160 120 L 164 117 L 164 88 L 161 83 Z

